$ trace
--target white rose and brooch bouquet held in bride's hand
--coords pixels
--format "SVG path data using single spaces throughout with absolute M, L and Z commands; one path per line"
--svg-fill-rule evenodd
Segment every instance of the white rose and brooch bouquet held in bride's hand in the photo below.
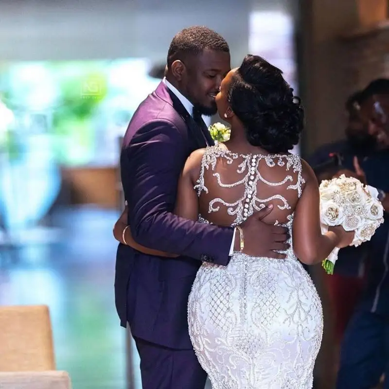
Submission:
M 325 233 L 329 226 L 342 226 L 355 231 L 353 243 L 359 246 L 369 241 L 384 222 L 384 209 L 378 200 L 378 191 L 359 180 L 344 175 L 324 180 L 320 191 L 320 223 Z M 322 263 L 328 274 L 333 274 L 339 248 L 335 248 Z

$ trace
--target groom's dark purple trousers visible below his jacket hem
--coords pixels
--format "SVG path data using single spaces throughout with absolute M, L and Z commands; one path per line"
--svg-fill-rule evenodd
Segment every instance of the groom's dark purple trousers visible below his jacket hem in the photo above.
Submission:
M 134 337 L 143 389 L 204 389 L 206 372 L 192 350 L 175 350 Z

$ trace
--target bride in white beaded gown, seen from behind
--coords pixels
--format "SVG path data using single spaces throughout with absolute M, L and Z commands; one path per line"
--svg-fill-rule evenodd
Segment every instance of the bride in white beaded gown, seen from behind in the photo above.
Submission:
M 213 389 L 308 389 L 323 330 L 318 293 L 301 262 L 321 262 L 354 232 L 330 228 L 322 235 L 319 191 L 309 165 L 288 150 L 303 126 L 300 100 L 282 71 L 247 55 L 216 96 L 230 140 L 195 151 L 177 189 L 179 216 L 237 227 L 240 251 L 227 266 L 203 263 L 188 301 L 195 353 Z M 256 258 L 238 227 L 268 206 L 269 224 L 286 226 L 286 259 Z M 122 240 L 126 213 L 115 225 Z M 126 229 L 125 241 L 146 253 Z M 173 256 L 158 253 L 161 256 Z M 299 260 L 301 261 L 299 261 Z

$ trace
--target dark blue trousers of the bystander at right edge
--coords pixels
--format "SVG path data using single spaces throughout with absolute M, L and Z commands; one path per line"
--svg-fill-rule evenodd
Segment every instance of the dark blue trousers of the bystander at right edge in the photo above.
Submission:
M 336 389 L 371 389 L 385 373 L 389 389 L 389 322 L 370 311 L 358 310 L 344 334 Z

